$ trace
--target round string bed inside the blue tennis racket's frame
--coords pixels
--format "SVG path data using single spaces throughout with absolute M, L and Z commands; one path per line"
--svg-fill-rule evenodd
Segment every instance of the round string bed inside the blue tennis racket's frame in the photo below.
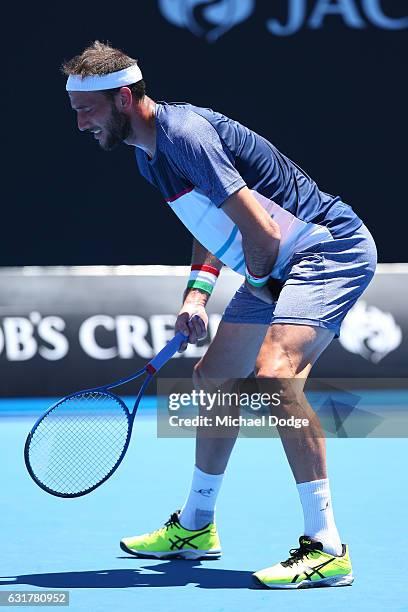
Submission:
M 122 457 L 129 414 L 113 394 L 86 393 L 49 412 L 29 447 L 35 477 L 46 487 L 73 495 L 99 484 Z

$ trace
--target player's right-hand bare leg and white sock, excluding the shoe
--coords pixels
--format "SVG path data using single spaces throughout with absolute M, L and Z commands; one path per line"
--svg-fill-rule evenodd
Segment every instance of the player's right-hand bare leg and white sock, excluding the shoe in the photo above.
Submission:
M 273 413 L 287 419 L 307 419 L 298 429 L 278 427 L 301 498 L 305 534 L 322 542 L 326 552 L 341 554 L 327 480 L 324 433 L 304 393 L 307 376 L 334 337 L 334 332 L 310 325 L 271 325 L 256 363 L 264 385 L 279 389 Z M 276 389 L 275 389 L 276 388 Z

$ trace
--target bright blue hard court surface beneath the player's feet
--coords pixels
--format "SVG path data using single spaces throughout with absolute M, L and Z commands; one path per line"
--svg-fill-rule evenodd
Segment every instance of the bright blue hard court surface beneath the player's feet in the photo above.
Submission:
M 354 585 L 272 591 L 254 588 L 251 573 L 287 558 L 303 529 L 278 439 L 238 440 L 217 505 L 222 559 L 142 560 L 126 556 L 119 540 L 158 528 L 182 505 L 194 440 L 158 439 L 147 399 L 116 474 L 85 497 L 60 499 L 32 482 L 23 460 L 26 435 L 47 404 L 0 402 L 0 590 L 66 590 L 68 609 L 87 612 L 408 610 L 406 438 L 327 442 Z

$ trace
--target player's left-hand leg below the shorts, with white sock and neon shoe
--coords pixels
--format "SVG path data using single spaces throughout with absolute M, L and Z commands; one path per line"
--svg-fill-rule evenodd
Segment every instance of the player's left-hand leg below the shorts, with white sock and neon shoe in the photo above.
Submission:
M 195 368 L 196 385 L 211 391 L 216 379 L 217 385 L 227 390 L 232 379 L 247 377 L 253 371 L 268 327 L 266 323 L 221 321 L 206 355 Z M 163 528 L 152 533 L 124 538 L 120 543 L 122 550 L 139 557 L 180 556 L 190 559 L 220 556 L 214 508 L 237 435 L 238 429 L 229 428 L 226 437 L 209 437 L 208 432 L 198 428 L 196 466 L 181 514 L 174 513 Z

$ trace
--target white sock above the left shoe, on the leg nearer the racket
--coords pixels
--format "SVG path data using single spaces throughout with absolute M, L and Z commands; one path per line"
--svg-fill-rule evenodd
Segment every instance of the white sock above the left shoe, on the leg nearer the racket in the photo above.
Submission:
M 201 529 L 214 522 L 215 502 L 224 474 L 206 474 L 194 467 L 187 500 L 181 509 L 180 523 L 185 529 Z

